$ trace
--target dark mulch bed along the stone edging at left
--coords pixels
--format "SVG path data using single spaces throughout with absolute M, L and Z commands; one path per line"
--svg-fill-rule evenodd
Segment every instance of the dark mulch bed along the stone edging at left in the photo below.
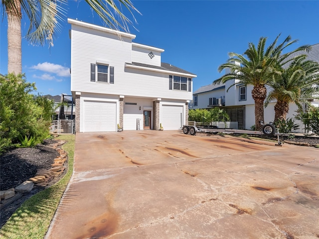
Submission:
M 15 188 L 33 177 L 39 169 L 50 169 L 54 158 L 59 156 L 59 153 L 50 146 L 56 142 L 56 140 L 46 139 L 34 148 L 15 148 L 0 155 L 0 190 Z M 64 172 L 66 171 L 67 169 L 64 170 Z M 63 176 L 64 174 L 59 178 Z M 56 183 L 59 178 L 55 178 L 49 185 Z M 31 192 L 23 194 L 20 199 L 2 208 L 0 210 L 0 228 L 25 200 L 43 189 L 43 187 L 34 187 Z

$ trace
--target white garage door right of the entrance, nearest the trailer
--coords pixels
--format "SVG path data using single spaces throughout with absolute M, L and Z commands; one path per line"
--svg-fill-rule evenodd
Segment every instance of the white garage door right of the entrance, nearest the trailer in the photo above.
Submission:
M 183 119 L 182 106 L 162 106 L 161 124 L 164 130 L 180 129 L 181 119 Z

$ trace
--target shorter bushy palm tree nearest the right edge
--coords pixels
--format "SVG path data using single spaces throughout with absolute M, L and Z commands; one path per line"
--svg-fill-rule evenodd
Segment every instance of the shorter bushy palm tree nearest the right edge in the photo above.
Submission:
M 268 83 L 272 90 L 266 98 L 265 107 L 277 100 L 274 122 L 286 120 L 290 103 L 301 108 L 301 103 L 313 99 L 314 93 L 318 93 L 319 63 L 306 58 L 307 55 L 295 57 L 287 68 L 279 64 L 281 74 L 275 75 L 273 81 Z

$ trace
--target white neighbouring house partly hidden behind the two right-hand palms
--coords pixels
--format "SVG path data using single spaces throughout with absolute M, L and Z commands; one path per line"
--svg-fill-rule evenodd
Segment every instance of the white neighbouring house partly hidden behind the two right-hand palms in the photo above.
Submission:
M 312 45 L 312 49 L 306 54 L 308 54 L 308 60 L 319 62 L 319 44 Z M 190 109 L 221 107 L 225 109 L 231 121 L 238 121 L 238 128 L 250 129 L 251 126 L 255 124 L 255 102 L 251 96 L 253 86 L 235 84 L 229 88 L 233 83 L 234 80 L 228 81 L 223 85 L 211 84 L 200 87 L 193 93 L 193 102 Z M 269 87 L 267 92 L 270 92 Z M 215 104 L 211 105 L 211 102 L 215 102 Z M 221 104 L 216 104 L 216 102 Z M 272 102 L 264 109 L 265 123 L 274 121 L 275 104 L 276 102 Z M 318 100 L 311 100 L 311 104 L 319 107 Z M 290 104 L 287 119 L 294 118 L 297 115 L 297 110 L 298 107 L 296 104 Z M 296 130 L 296 132 L 305 132 L 304 125 L 300 120 L 295 119 L 295 123 L 300 124 L 300 129 Z

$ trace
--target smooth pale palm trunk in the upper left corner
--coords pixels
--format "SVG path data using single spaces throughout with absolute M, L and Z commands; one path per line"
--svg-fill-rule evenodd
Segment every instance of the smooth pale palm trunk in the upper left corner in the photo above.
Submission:
M 21 52 L 21 5 L 14 0 L 16 9 L 6 8 L 8 29 L 8 73 L 22 73 Z

